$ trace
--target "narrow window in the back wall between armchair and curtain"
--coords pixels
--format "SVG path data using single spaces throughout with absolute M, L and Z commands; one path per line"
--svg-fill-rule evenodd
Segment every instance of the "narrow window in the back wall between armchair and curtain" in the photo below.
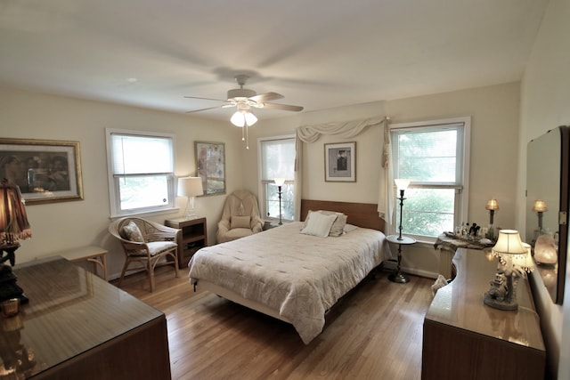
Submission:
M 259 139 L 257 151 L 261 213 L 265 214 L 265 219 L 279 220 L 279 192 L 273 180 L 285 178 L 281 187 L 281 220 L 292 221 L 295 216 L 295 136 Z

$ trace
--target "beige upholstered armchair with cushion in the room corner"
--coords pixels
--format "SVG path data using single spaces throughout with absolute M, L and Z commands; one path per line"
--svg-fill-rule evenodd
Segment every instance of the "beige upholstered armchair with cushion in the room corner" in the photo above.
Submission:
M 224 243 L 263 230 L 257 198 L 248 190 L 235 190 L 225 199 L 222 219 L 217 224 L 216 239 Z

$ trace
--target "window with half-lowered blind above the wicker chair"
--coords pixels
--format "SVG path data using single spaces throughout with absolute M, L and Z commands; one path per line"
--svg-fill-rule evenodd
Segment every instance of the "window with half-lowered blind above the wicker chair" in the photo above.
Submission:
M 174 136 L 107 129 L 111 216 L 174 208 Z

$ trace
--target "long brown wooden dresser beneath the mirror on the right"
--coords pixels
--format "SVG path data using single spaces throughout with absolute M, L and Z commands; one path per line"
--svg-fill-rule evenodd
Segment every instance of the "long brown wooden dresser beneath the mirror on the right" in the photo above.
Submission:
M 501 311 L 483 303 L 496 259 L 459 248 L 453 264 L 457 276 L 437 291 L 424 319 L 421 378 L 544 378 L 546 352 L 528 280 L 518 282 L 518 310 Z

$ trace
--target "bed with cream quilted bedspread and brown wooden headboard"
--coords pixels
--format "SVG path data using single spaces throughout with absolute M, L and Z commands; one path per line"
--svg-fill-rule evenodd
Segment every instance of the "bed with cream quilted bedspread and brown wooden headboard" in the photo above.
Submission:
M 314 232 L 309 227 L 319 218 L 333 220 L 322 216 L 332 212 L 346 215 L 342 229 L 346 233 L 338 237 L 306 233 Z M 373 204 L 304 199 L 301 213 L 310 214 L 308 222 L 284 223 L 201 248 L 188 266 L 195 288 L 284 320 L 309 344 L 321 334 L 326 311 L 387 258 L 387 240 Z M 340 216 L 334 220 L 343 221 Z M 335 228 L 337 224 L 330 230 Z

